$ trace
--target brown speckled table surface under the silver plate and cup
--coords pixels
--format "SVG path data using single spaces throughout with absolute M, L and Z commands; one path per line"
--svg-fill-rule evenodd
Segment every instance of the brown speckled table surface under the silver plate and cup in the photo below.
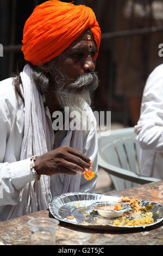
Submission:
M 114 196 L 128 196 L 158 202 L 163 205 L 163 181 L 115 191 Z M 5 245 L 30 245 L 28 220 L 37 217 L 52 217 L 49 210 L 13 218 L 0 223 L 0 241 Z M 163 245 L 163 221 L 135 230 L 96 230 L 60 222 L 57 228 L 56 245 Z

